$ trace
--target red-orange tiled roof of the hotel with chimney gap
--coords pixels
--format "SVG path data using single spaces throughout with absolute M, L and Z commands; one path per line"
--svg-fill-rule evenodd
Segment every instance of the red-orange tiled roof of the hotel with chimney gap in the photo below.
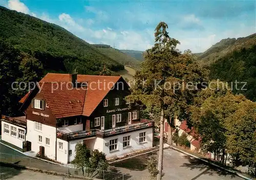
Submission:
M 60 85 L 60 82 L 70 82 L 70 74 L 48 73 L 39 83 L 42 85 L 41 92 L 46 97 L 47 104 L 55 117 L 60 118 L 75 115 L 90 116 L 120 78 L 121 76 L 78 74 L 77 82 L 88 83 L 88 88 L 78 88 L 79 90 L 76 88 L 73 90 L 67 89 L 65 88 L 67 84 L 56 88 L 57 83 Z M 57 90 L 52 91 L 52 85 Z M 62 87 L 62 90 L 60 87 Z M 26 96 L 28 95 L 26 94 Z M 26 98 L 23 97 L 22 99 Z M 77 100 L 79 100 L 78 103 L 73 103 Z

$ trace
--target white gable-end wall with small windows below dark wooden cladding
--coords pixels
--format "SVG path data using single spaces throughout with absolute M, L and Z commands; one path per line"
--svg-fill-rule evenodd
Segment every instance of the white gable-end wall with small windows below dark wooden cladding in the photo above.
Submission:
M 31 142 L 31 150 L 39 152 L 39 146 L 45 147 L 45 156 L 55 160 L 55 146 L 56 146 L 56 127 L 46 124 L 41 124 L 41 130 L 36 130 L 35 121 L 27 119 L 27 136 L 26 140 Z M 41 137 L 41 142 L 39 141 Z M 49 144 L 46 142 L 49 139 Z

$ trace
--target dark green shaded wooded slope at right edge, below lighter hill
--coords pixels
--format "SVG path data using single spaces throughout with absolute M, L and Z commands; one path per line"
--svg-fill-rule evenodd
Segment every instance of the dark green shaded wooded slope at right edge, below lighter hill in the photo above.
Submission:
M 234 51 L 210 65 L 210 78 L 229 82 L 233 92 L 256 101 L 256 45 Z M 236 81 L 237 88 L 236 88 Z M 246 82 L 246 86 L 241 89 Z

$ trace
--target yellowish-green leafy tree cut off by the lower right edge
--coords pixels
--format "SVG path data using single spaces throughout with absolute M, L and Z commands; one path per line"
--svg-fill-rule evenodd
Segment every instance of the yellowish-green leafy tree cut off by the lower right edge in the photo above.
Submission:
M 256 176 L 256 102 L 245 100 L 226 122 L 227 152 Z M 238 164 L 238 165 L 239 165 Z

